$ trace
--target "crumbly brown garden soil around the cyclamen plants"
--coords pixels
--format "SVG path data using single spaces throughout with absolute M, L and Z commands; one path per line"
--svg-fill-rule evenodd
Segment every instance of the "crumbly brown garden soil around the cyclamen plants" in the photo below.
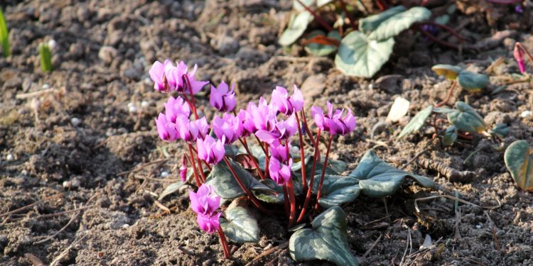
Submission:
M 148 70 L 165 58 L 198 63 L 200 79 L 235 82 L 239 107 L 268 96 L 276 84 L 293 83 L 301 85 L 308 106 L 331 101 L 350 107 L 357 129 L 338 138 L 332 153 L 333 159 L 349 162 L 350 170 L 370 148 L 397 167 L 426 149 L 421 157 L 476 173 L 471 182 L 451 183 L 412 163 L 406 169 L 434 177 L 438 189 L 407 183 L 386 201 L 361 196 L 347 204 L 350 248 L 362 265 L 399 264 L 402 258 L 409 265 L 533 265 L 532 194 L 516 187 L 503 162 L 512 141 L 533 143 L 533 116 L 520 116 L 532 109 L 531 84 L 510 84 L 495 95 L 457 91 L 453 96 L 453 101 L 467 99 L 489 126 L 512 126 L 503 149 L 481 136 L 443 148 L 431 141 L 431 129 L 397 140 L 408 119 L 375 128 L 397 96 L 411 101 L 410 116 L 441 101 L 450 82 L 431 72 L 436 63 L 483 71 L 490 58 L 505 57 L 492 74 L 493 87 L 501 84 L 496 76 L 517 72 L 515 40 L 533 50 L 529 9 L 519 15 L 510 6 L 486 11 L 486 5 L 458 1 L 451 24 L 463 25 L 460 33 L 470 43 L 498 31 L 508 34 L 478 50 L 458 52 L 407 31 L 376 78 L 399 76 L 376 82 L 346 77 L 331 58 L 308 57 L 299 46 L 289 54 L 280 48 L 277 35 L 291 1 L 17 2 L 3 6 L 13 55 L 0 58 L 1 265 L 36 263 L 28 253 L 47 265 L 58 257 L 58 265 L 245 265 L 285 243 L 289 234 L 282 221 L 262 218 L 259 243 L 230 243 L 232 260 L 224 260 L 217 236 L 196 226 L 186 187 L 161 201 L 171 214 L 156 206 L 157 194 L 169 182 L 154 178 L 163 178 L 162 172 L 177 178 L 183 152 L 181 145 L 168 145 L 156 135 L 154 118 L 166 96 L 154 92 Z M 45 74 L 37 47 L 50 39 L 57 42 L 55 70 Z M 43 89 L 50 91 L 21 98 Z M 200 98 L 200 109 L 209 114 L 208 98 Z M 171 156 L 161 160 L 166 153 Z M 459 204 L 456 210 L 452 200 L 432 199 L 420 201 L 421 214 L 415 215 L 414 199 L 456 193 L 474 204 L 501 207 L 488 211 Z M 55 194 L 60 195 L 47 198 Z M 419 251 L 426 234 L 435 245 Z M 254 262 L 265 264 L 329 265 L 295 263 L 283 249 Z

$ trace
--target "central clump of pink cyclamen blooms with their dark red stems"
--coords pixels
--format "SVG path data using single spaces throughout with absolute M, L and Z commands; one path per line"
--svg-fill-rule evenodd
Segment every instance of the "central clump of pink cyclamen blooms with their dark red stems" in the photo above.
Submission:
M 189 192 L 190 208 L 198 215 L 198 226 L 203 231 L 218 233 L 225 257 L 230 257 L 225 235 L 230 233 L 228 237 L 237 242 L 243 240 L 232 234 L 235 230 L 226 232 L 224 228 L 236 226 L 232 225 L 235 216 L 249 215 L 249 211 L 226 209 L 220 206 L 221 200 L 244 197 L 263 214 L 285 214 L 288 228 L 316 216 L 321 212 L 318 199 L 333 136 L 353 131 L 355 117 L 350 109 L 334 109 L 329 102 L 325 113 L 321 107 L 313 106 L 311 113 L 317 129 L 311 131 L 303 110 L 303 95 L 296 85 L 292 94 L 284 87 L 276 87 L 270 102 L 261 97 L 257 103 L 250 102 L 246 109 L 236 111 L 234 85 L 225 82 L 210 86 L 209 103 L 222 114 L 210 119 L 200 117 L 195 94 L 209 82 L 195 79 L 197 68 L 195 65 L 189 71 L 184 62 L 173 65 L 170 60 L 155 62 L 151 67 L 154 89 L 177 94 L 169 96 L 165 111 L 156 118 L 156 126 L 162 140 L 186 143 L 181 179 L 198 187 L 197 192 Z M 329 133 L 329 140 L 322 160 L 318 146 L 323 132 Z M 304 143 L 311 143 L 313 151 L 308 160 Z M 291 153 L 291 146 L 298 147 L 299 153 Z M 316 175 L 317 168 L 321 172 Z M 189 169 L 193 179 L 188 179 Z

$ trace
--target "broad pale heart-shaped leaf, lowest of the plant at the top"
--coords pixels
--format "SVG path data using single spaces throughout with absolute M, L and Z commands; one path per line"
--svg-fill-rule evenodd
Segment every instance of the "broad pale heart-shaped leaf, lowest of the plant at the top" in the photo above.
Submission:
M 349 76 L 372 77 L 389 60 L 394 38 L 368 40 L 360 31 L 352 31 L 340 41 L 335 66 Z

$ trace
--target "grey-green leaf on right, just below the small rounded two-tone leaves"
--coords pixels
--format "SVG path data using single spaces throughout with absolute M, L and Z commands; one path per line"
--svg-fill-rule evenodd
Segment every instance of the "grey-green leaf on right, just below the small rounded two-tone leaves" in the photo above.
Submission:
M 456 109 L 448 113 L 448 121 L 460 131 L 480 133 L 487 129 L 483 117 L 463 101 L 456 102 Z

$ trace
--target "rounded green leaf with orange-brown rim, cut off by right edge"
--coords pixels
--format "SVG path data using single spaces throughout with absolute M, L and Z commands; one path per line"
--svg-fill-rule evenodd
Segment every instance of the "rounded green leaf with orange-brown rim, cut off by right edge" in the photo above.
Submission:
M 505 166 L 518 187 L 525 191 L 533 191 L 533 149 L 529 147 L 529 143 L 526 140 L 511 143 L 503 157 Z

